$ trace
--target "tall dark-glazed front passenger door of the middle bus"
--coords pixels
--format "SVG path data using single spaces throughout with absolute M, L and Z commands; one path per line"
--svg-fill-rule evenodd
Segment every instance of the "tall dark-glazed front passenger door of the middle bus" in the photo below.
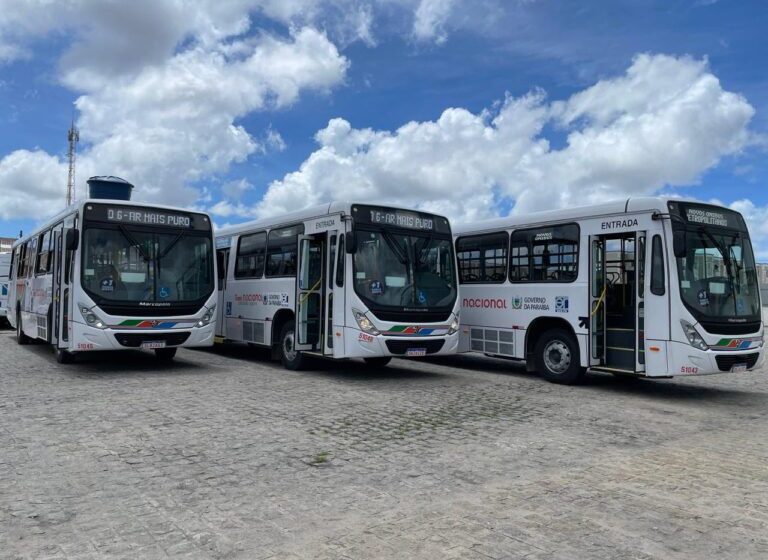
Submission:
M 325 233 L 300 235 L 296 275 L 296 350 L 317 350 L 322 337 Z

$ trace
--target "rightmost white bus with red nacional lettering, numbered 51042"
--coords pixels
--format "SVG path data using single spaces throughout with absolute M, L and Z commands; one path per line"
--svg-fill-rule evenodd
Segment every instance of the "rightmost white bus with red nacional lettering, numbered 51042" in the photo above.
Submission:
M 760 365 L 749 232 L 719 206 L 664 198 L 456 228 L 461 352 L 561 383 L 587 368 L 669 377 Z

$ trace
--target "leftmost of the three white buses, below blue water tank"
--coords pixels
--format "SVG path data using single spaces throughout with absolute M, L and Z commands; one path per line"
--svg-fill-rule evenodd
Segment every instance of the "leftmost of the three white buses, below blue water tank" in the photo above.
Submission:
M 13 245 L 9 318 L 19 344 L 80 352 L 213 344 L 213 230 L 205 214 L 91 199 Z

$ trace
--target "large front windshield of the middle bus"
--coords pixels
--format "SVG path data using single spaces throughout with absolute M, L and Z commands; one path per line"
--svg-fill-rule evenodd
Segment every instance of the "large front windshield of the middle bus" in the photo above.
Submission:
M 456 301 L 450 237 L 387 229 L 359 229 L 355 292 L 371 307 L 440 309 Z

